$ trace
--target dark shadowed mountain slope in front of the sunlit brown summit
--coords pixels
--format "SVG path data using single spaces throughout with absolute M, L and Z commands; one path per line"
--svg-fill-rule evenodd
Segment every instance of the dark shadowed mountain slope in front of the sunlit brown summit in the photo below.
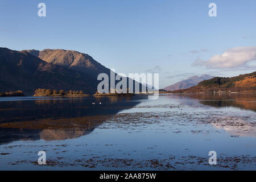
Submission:
M 31 95 L 37 88 L 97 90 L 96 82 L 85 73 L 47 63 L 27 51 L 0 48 L 0 64 L 0 92 L 23 90 Z

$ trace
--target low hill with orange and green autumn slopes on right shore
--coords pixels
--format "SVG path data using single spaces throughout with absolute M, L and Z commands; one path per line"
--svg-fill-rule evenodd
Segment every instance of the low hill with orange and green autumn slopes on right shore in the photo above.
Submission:
M 242 92 L 256 90 L 256 72 L 235 77 L 214 77 L 199 82 L 198 85 L 188 89 L 172 91 L 172 93 L 210 93 L 213 91 Z

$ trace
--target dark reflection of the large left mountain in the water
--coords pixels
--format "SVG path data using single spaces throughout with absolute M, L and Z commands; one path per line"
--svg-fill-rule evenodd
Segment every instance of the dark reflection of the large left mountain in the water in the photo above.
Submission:
M 15 140 L 78 138 L 89 134 L 119 111 L 138 105 L 138 98 L 54 97 L 0 102 L 0 144 Z

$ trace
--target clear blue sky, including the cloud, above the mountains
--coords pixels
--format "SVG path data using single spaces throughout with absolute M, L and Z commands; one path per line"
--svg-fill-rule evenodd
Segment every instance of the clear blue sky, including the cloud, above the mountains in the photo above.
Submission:
M 212 2 L 216 17 L 208 15 Z M 255 7 L 255 0 L 0 0 L 0 47 L 76 50 L 117 73 L 159 73 L 164 88 L 193 75 L 255 71 Z

